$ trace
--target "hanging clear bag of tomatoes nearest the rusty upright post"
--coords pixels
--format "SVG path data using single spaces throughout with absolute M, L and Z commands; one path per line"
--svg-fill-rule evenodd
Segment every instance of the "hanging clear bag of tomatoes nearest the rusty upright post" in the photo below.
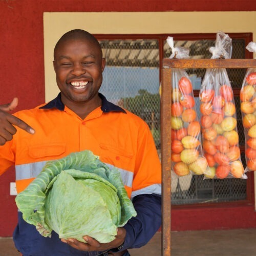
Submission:
M 188 58 L 189 50 L 174 48 L 173 37 L 167 38 L 172 48 L 170 58 Z M 201 127 L 195 109 L 193 86 L 184 69 L 172 70 L 172 170 L 176 177 L 202 175 L 207 160 L 202 155 Z

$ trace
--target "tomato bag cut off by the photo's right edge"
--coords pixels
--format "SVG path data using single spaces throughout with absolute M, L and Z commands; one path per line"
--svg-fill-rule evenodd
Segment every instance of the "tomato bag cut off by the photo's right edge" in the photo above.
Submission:
M 250 42 L 246 49 L 256 53 L 256 42 Z M 256 170 L 256 68 L 246 71 L 240 91 L 240 109 L 245 135 L 245 172 Z

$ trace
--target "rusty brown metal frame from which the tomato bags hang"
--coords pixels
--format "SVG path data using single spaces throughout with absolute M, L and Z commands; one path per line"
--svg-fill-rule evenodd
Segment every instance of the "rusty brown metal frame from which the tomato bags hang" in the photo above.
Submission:
M 163 59 L 161 83 L 162 256 L 171 255 L 172 69 L 256 68 L 256 59 Z

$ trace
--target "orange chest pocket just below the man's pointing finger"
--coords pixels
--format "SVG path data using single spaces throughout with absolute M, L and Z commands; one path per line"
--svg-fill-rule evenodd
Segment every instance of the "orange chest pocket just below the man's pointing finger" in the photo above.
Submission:
M 66 143 L 46 143 L 29 147 L 29 156 L 31 158 L 52 160 L 55 159 L 55 157 L 60 158 L 65 155 Z

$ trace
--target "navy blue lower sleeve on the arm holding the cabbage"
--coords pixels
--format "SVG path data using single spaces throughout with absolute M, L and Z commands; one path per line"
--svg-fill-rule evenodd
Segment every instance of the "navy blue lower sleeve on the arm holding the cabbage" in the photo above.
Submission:
M 147 244 L 161 226 L 161 195 L 139 195 L 134 197 L 133 204 L 137 216 L 124 226 L 126 237 L 122 249 Z

